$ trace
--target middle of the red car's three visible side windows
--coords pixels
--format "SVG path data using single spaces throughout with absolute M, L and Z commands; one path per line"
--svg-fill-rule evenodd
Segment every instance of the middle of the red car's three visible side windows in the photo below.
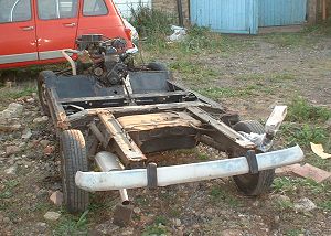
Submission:
M 77 0 L 38 0 L 38 15 L 42 20 L 75 18 Z

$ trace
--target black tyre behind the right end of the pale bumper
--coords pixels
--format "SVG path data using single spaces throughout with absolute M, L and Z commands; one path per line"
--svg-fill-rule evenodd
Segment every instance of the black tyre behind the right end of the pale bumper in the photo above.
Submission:
M 236 131 L 265 133 L 263 125 L 256 120 L 237 122 L 234 126 Z M 233 154 L 237 157 L 238 154 Z M 256 196 L 270 190 L 275 178 L 275 169 L 259 171 L 257 174 L 243 174 L 233 176 L 238 190 L 246 195 Z

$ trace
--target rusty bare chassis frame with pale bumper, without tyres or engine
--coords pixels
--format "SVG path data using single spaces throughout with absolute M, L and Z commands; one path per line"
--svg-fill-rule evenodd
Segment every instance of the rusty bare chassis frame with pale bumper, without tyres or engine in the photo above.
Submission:
M 172 88 L 171 92 L 131 94 L 129 97 L 114 95 L 60 98 L 54 87 L 46 87 L 45 98 L 57 132 L 66 129 L 83 130 L 86 139 L 90 140 L 87 150 L 88 157 L 95 157 L 100 150 L 116 153 L 126 169 L 116 172 L 77 172 L 76 184 L 78 187 L 86 191 L 106 191 L 164 186 L 249 173 L 249 164 L 243 157 L 249 150 L 256 153 L 260 153 L 260 151 L 257 150 L 255 143 L 232 128 L 233 122 L 237 121 L 237 116 L 227 112 L 217 103 L 192 93 L 174 82 L 168 81 L 168 83 Z M 68 115 L 68 107 L 83 109 Z M 164 129 L 160 130 L 161 138 L 151 141 L 149 136 L 159 128 L 158 125 L 153 124 L 156 125 L 154 129 L 132 131 L 119 121 L 129 116 L 139 117 L 140 115 L 166 112 L 188 115 L 200 125 L 184 126 L 179 120 L 174 126 L 163 127 Z M 169 129 L 180 130 L 180 133 L 174 135 L 173 140 L 171 133 L 168 133 L 168 139 L 162 142 Z M 188 138 L 186 141 L 181 143 L 180 140 L 185 140 L 185 138 Z M 164 168 L 147 164 L 149 161 L 146 153 L 181 148 L 180 146 L 190 148 L 200 142 L 229 154 L 236 153 L 242 158 Z M 149 143 L 153 143 L 153 147 Z M 299 147 L 257 154 L 258 170 L 291 164 L 302 158 L 303 154 Z M 183 172 L 186 174 L 182 175 Z

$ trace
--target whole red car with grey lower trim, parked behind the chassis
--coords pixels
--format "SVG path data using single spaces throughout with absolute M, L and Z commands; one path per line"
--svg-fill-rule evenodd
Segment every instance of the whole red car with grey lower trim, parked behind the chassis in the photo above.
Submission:
M 0 68 L 62 62 L 60 50 L 96 33 L 134 47 L 111 0 L 1 0 Z

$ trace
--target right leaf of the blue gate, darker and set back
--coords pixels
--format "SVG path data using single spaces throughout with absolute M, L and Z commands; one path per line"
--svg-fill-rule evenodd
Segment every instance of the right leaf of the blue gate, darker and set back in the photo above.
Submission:
M 259 0 L 258 25 L 280 26 L 306 21 L 307 0 Z

